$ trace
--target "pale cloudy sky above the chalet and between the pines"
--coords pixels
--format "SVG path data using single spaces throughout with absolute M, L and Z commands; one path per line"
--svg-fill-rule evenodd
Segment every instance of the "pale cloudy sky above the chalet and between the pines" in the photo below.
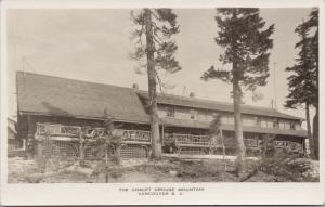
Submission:
M 139 75 L 138 63 L 130 60 L 134 49 L 130 40 L 134 25 L 128 9 L 20 9 L 8 10 L 9 116 L 16 117 L 15 72 L 58 76 L 121 87 L 138 83 L 147 89 L 146 75 Z M 260 9 L 265 26 L 275 24 L 273 49 L 270 51 L 268 85 L 259 87 L 262 100 L 252 101 L 245 92 L 244 102 L 271 107 L 276 98 L 277 109 L 304 118 L 302 108 L 284 108 L 288 94 L 285 68 L 295 63 L 298 41 L 294 33 L 311 9 Z M 165 92 L 231 102 L 232 86 L 220 80 L 203 81 L 200 76 L 218 61 L 222 48 L 216 44 L 217 24 L 213 9 L 177 9 L 180 33 L 176 54 L 182 70 L 162 76 L 174 86 Z M 274 73 L 275 70 L 275 73 Z

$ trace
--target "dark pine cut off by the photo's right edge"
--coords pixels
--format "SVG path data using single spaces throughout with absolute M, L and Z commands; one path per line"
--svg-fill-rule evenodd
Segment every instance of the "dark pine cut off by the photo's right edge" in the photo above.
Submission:
M 312 31 L 314 28 L 314 31 Z M 292 67 L 287 67 L 286 70 L 292 73 L 288 77 L 289 94 L 285 106 L 289 108 L 297 108 L 304 105 L 307 132 L 311 148 L 311 156 L 317 158 L 318 154 L 318 139 L 313 140 L 311 133 L 310 107 L 316 108 L 314 118 L 314 130 L 317 135 L 317 116 L 318 116 L 318 10 L 312 10 L 310 18 L 301 23 L 295 33 L 300 37 L 296 48 L 300 51 L 296 64 Z M 310 33 L 314 33 L 312 36 Z

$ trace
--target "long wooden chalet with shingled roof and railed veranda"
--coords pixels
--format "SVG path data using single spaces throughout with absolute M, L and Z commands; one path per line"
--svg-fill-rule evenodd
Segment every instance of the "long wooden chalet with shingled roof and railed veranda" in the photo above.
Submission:
M 138 87 L 122 88 L 31 73 L 16 74 L 18 138 L 30 145 L 44 137 L 55 140 L 63 152 L 79 155 L 80 132 L 95 139 L 103 132 L 104 111 L 114 117 L 122 137 L 121 156 L 145 157 L 150 152 L 148 94 Z M 233 105 L 190 96 L 158 95 L 158 114 L 165 153 L 219 154 L 222 143 L 212 142 L 209 125 L 221 115 L 226 154 L 235 150 Z M 265 135 L 275 137 L 276 147 L 304 151 L 302 119 L 272 108 L 242 106 L 247 154 L 261 148 Z M 32 148 L 32 147 L 31 147 Z M 91 156 L 91 151 L 87 152 Z

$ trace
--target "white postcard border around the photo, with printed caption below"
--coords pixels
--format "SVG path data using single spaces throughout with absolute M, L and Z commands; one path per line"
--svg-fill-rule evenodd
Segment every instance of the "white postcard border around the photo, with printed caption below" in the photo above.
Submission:
M 320 139 L 321 182 L 320 183 L 83 183 L 83 184 L 9 184 L 6 158 L 6 10 L 23 8 L 214 8 L 214 7 L 261 7 L 261 8 L 301 8 L 320 7 L 320 68 L 324 67 L 324 1 L 239 1 L 239 0 L 107 0 L 107 1 L 3 1 L 1 5 L 1 204 L 2 205 L 320 205 L 324 204 L 324 148 L 325 141 Z M 320 69 L 320 94 L 324 92 L 324 72 Z M 320 98 L 320 126 L 324 124 L 324 98 Z M 324 137 L 320 127 L 320 138 Z M 120 187 L 204 187 L 204 191 L 186 191 L 183 195 L 140 196 L 136 192 L 121 192 Z

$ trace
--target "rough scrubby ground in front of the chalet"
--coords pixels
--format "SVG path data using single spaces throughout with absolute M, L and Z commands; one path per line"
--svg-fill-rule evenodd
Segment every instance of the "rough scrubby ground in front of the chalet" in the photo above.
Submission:
M 23 158 L 9 158 L 10 183 L 100 183 L 106 182 L 103 173 L 103 164 L 99 161 L 86 161 L 80 167 L 78 161 L 61 163 L 60 167 L 48 163 L 46 170 L 40 173 L 34 160 Z M 253 160 L 246 161 L 246 174 L 250 174 L 257 165 Z M 301 174 L 298 180 L 288 179 L 285 176 L 256 171 L 245 182 L 292 182 L 292 181 L 318 181 L 317 163 L 310 163 L 312 173 Z M 159 161 L 146 159 L 125 159 L 120 166 L 109 165 L 108 182 L 239 182 L 234 174 L 234 163 L 224 163 L 220 159 L 178 159 L 164 158 Z

